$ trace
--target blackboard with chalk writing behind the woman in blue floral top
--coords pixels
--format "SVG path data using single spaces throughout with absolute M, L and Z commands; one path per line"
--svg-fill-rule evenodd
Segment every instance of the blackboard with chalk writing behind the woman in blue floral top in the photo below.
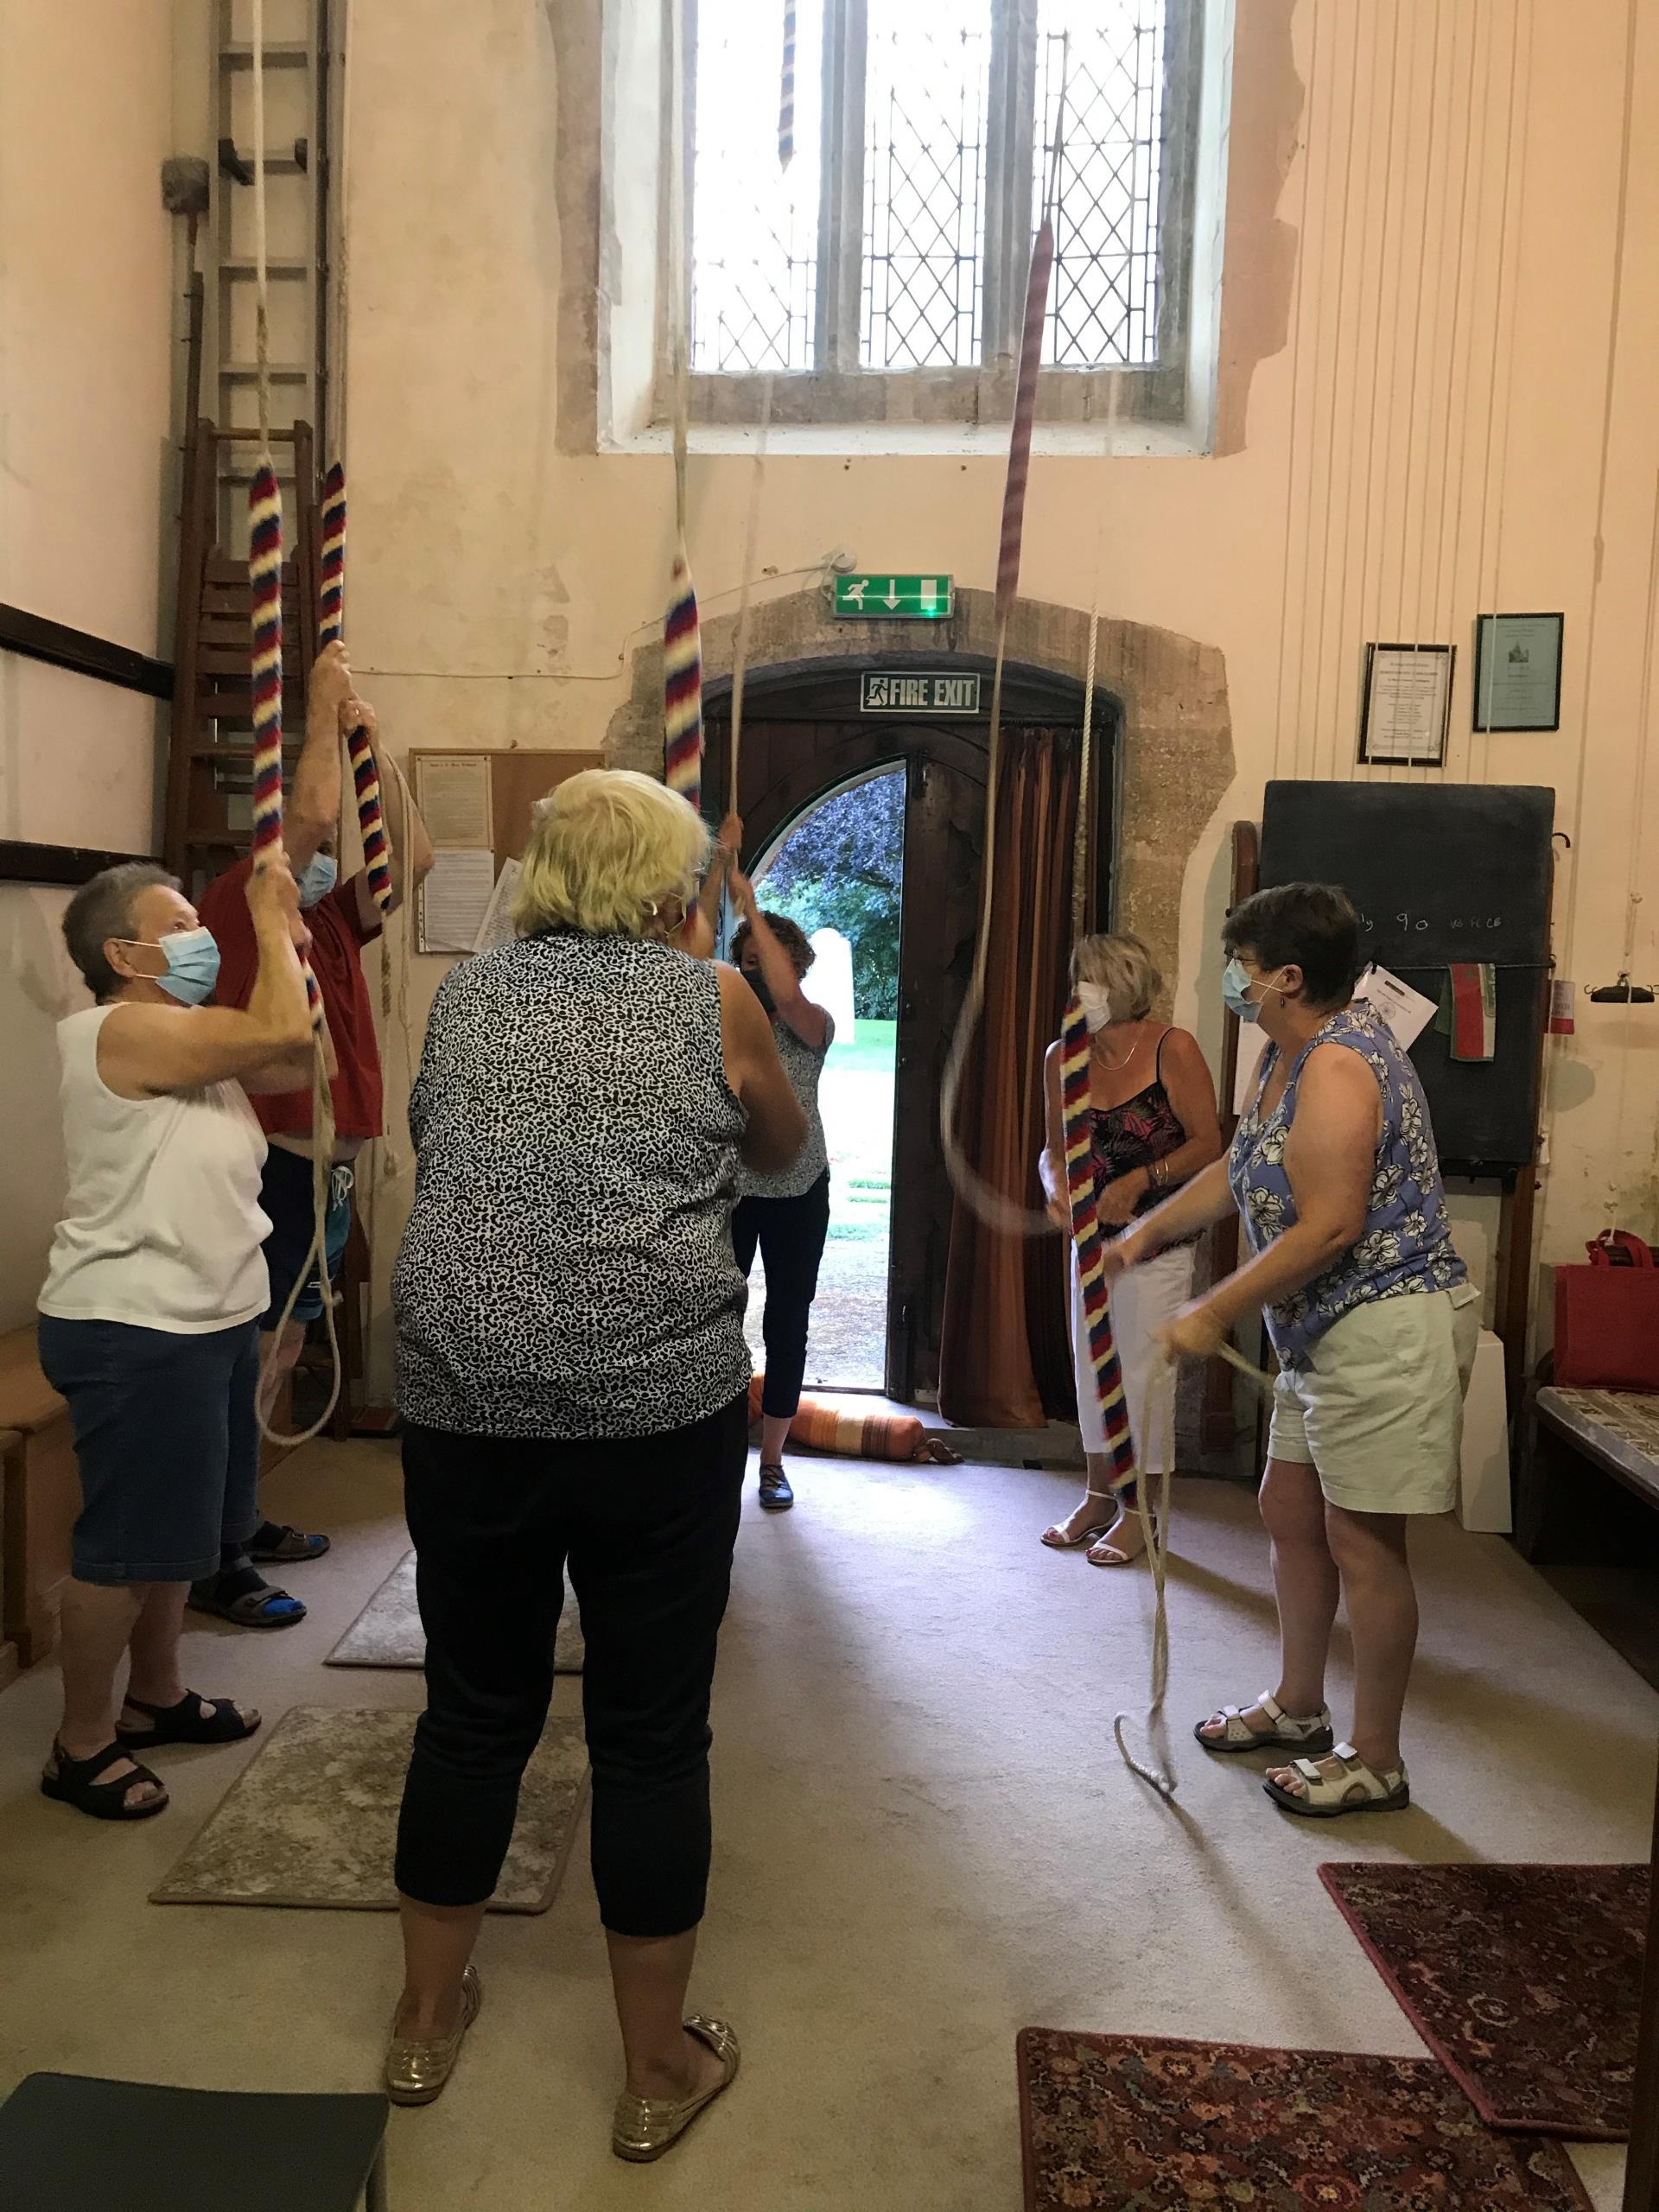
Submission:
M 1453 960 L 1498 969 L 1498 1053 L 1458 1062 L 1429 1024 L 1411 1046 L 1458 1175 L 1511 1177 L 1537 1146 L 1555 792 L 1531 783 L 1270 783 L 1261 883 L 1340 883 L 1367 960 L 1438 1000 Z

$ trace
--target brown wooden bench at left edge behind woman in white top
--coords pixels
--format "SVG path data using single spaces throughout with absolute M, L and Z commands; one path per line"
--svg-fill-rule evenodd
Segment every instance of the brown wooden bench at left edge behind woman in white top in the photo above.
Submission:
M 58 1606 L 80 1513 L 75 1438 L 64 1400 L 40 1371 L 35 1332 L 0 1336 L 0 1639 L 20 1666 L 58 1644 Z

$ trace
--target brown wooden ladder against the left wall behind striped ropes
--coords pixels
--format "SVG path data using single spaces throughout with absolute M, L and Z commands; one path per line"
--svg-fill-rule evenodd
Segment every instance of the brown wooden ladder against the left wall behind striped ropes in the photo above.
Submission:
M 246 480 L 250 465 L 226 449 L 250 447 L 257 431 L 221 431 L 199 420 L 184 460 L 179 602 L 173 641 L 173 728 L 168 734 L 166 830 L 161 854 L 188 898 L 239 860 L 252 843 L 252 599 L 248 560 L 219 542 L 219 487 Z M 283 759 L 292 765 L 305 737 L 305 681 L 316 659 L 316 456 L 310 422 L 272 431 L 272 449 L 292 451 L 279 467 L 285 491 L 283 538 Z M 288 458 L 285 453 L 281 458 Z

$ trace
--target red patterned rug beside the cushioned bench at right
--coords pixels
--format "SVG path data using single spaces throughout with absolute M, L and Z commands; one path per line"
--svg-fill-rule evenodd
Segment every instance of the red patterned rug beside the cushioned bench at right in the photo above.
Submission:
M 1624 2141 L 1646 1867 L 1321 1867 L 1425 2044 L 1493 2128 Z

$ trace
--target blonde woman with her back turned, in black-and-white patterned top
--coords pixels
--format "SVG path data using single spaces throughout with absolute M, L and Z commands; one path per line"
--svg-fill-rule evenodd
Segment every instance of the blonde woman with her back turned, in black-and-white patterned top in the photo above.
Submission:
M 546 1723 L 564 1568 L 582 1606 L 593 1880 L 626 2057 L 622 2159 L 737 2073 L 684 2013 L 710 1863 L 708 1701 L 748 1378 L 730 1212 L 805 1117 L 754 993 L 681 931 L 708 832 L 650 776 L 540 812 L 520 940 L 434 1000 L 392 1285 L 427 1710 L 398 1827 L 405 1989 L 387 2055 L 429 2104 L 478 2015 L 471 1951 Z

